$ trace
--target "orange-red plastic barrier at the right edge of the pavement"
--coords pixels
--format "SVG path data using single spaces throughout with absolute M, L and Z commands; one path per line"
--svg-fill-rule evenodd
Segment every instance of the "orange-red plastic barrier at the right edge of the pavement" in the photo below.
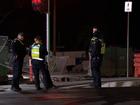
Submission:
M 135 77 L 140 77 L 140 53 L 134 54 Z

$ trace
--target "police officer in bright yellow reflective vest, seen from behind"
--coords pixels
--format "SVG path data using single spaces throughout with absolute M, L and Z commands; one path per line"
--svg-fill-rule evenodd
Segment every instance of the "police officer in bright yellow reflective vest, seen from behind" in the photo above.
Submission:
M 48 54 L 46 47 L 42 44 L 40 36 L 34 38 L 35 43 L 31 46 L 29 56 L 31 57 L 32 68 L 34 73 L 35 87 L 37 90 L 41 90 L 39 72 L 41 70 L 43 75 L 43 84 L 46 89 L 54 87 L 50 77 L 50 73 L 45 61 L 45 56 Z

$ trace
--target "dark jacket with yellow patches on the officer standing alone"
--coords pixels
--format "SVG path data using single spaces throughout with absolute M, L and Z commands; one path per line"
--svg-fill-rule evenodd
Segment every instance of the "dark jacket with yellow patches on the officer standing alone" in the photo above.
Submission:
M 105 43 L 102 39 L 92 37 L 89 46 L 89 52 L 91 57 L 98 57 L 105 53 Z

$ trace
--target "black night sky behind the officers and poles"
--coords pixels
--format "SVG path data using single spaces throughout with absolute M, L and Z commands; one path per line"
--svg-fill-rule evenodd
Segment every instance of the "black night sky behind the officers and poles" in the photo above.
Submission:
M 33 11 L 29 0 L 23 0 L 22 4 L 17 1 L 1 1 L 0 34 L 13 38 L 19 31 L 24 31 L 27 33 L 27 38 L 32 38 L 36 34 L 44 37 L 45 14 Z M 94 25 L 100 27 L 107 46 L 126 47 L 127 13 L 124 12 L 124 1 L 56 0 L 57 50 L 87 49 L 91 28 Z M 53 18 L 53 8 L 51 8 L 51 18 Z M 130 46 L 138 49 L 139 32 L 136 30 L 136 23 L 138 18 L 136 19 L 136 1 L 134 1 L 133 12 L 130 13 Z

